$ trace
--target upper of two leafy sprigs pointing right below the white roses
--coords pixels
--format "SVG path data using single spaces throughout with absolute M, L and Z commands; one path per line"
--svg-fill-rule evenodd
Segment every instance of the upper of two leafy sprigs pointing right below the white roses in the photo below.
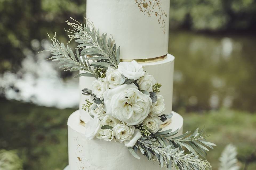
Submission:
M 186 133 L 171 138 L 170 137 L 176 135 L 178 133 L 178 129 L 171 132 L 172 129 L 166 130 L 166 131 L 160 131 L 156 134 L 153 134 L 160 143 L 163 145 L 171 145 L 171 148 L 179 148 L 180 151 L 182 151 L 182 147 L 187 148 L 187 150 L 194 155 L 201 155 L 203 158 L 206 157 L 207 153 L 206 151 L 209 151 L 209 148 L 213 149 L 213 146 L 216 146 L 214 143 L 207 142 L 205 140 L 206 137 L 209 137 L 209 135 L 204 135 L 205 131 L 197 128 L 192 134 L 190 134 L 190 131 L 187 131 Z M 199 131 L 199 132 L 198 132 Z

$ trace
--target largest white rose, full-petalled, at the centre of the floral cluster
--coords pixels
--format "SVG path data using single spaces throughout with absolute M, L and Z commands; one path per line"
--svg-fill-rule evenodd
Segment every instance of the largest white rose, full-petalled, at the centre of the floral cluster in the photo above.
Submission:
M 138 125 L 148 116 L 152 100 L 135 85 L 123 84 L 104 93 L 107 114 L 127 123 Z

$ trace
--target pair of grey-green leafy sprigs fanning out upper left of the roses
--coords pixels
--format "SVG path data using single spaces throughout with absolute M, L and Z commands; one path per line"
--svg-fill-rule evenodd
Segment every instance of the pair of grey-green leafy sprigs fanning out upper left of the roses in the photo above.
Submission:
M 86 76 L 98 78 L 99 75 L 100 77 L 104 76 L 105 71 L 98 69 L 98 67 L 104 69 L 108 67 L 117 68 L 120 62 L 120 47 L 116 50 L 114 40 L 109 38 L 107 41 L 107 34 L 103 33 L 100 35 L 99 29 L 96 30 L 94 25 L 87 19 L 87 25 L 82 25 L 76 20 L 74 21 L 75 23 L 66 21 L 73 29 L 65 30 L 71 33 L 69 35 L 69 42 L 73 39 L 76 39 L 75 41 L 78 42 L 76 55 L 68 45 L 65 46 L 56 39 L 56 33 L 53 38 L 48 34 L 53 42 L 47 50 L 53 55 L 49 60 L 60 61 L 59 63 L 62 65 L 60 68 L 65 71 L 84 71 L 84 73 L 78 74 L 75 77 Z

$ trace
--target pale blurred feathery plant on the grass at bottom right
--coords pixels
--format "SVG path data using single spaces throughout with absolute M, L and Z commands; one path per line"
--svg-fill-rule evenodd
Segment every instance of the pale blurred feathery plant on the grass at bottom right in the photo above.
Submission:
M 237 149 L 229 144 L 225 147 L 224 151 L 219 158 L 219 170 L 238 170 L 240 169 L 237 160 Z

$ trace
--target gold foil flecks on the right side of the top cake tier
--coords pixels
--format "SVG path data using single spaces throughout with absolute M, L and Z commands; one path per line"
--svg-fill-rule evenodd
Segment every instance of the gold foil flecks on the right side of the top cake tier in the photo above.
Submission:
M 162 9 L 161 0 L 134 0 L 138 5 L 139 10 L 149 17 L 152 15 L 157 17 L 158 24 L 161 26 L 163 32 L 166 32 L 166 19 L 167 14 Z

